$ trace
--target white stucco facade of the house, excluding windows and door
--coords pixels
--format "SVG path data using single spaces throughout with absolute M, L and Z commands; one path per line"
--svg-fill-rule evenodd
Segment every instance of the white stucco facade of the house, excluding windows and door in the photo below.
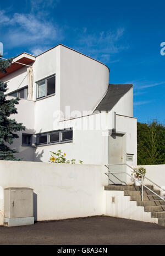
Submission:
M 67 159 L 83 160 L 84 164 L 108 164 L 111 163 L 108 138 L 113 129 L 113 133 L 123 134 L 122 163 L 127 162 L 128 153 L 134 155 L 129 164 L 136 165 L 133 88 L 120 97 L 109 112 L 94 113 L 108 90 L 109 69 L 105 64 L 63 45 L 36 57 L 24 53 L 14 60 L 19 61 L 22 57 L 31 59 L 34 82 L 32 100 L 22 98 L 16 106 L 18 114 L 12 117 L 26 127 L 12 145 L 19 151 L 19 158 L 47 162 L 50 151 L 61 149 Z M 56 93 L 37 100 L 37 82 L 53 75 L 56 76 Z M 27 86 L 27 67 L 11 72 L 1 80 L 8 82 L 7 93 L 20 90 Z M 32 142 L 35 142 L 36 134 L 65 128 L 73 128 L 72 141 L 36 147 L 22 145 L 21 133 L 32 134 Z

